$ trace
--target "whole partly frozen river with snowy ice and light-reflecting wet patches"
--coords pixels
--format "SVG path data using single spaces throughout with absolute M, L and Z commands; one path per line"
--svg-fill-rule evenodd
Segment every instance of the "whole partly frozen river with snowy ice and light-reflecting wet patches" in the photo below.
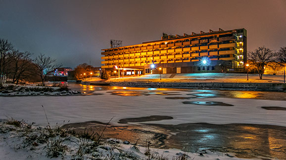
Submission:
M 176 135 L 166 141 L 178 143 L 180 149 L 184 149 L 182 144 L 195 145 L 189 147 L 192 151 L 203 147 L 222 148 L 238 141 L 241 143 L 237 142 L 237 147 L 247 150 L 256 149 L 254 144 L 259 142 L 263 144 L 262 147 L 260 145 L 259 152 L 272 151 L 280 147 L 279 151 L 266 155 L 275 157 L 276 153 L 279 153 L 276 158 L 286 156 L 285 147 L 283 148 L 286 145 L 286 93 L 100 87 L 79 84 L 71 84 L 70 87 L 72 90 L 85 92 L 86 96 L 2 96 L 0 119 L 12 117 L 46 126 L 43 105 L 52 125 L 87 121 L 107 123 L 112 119 L 113 126 L 147 126 L 145 129 L 148 128 L 150 132 Z M 156 116 L 163 118 L 156 120 Z M 184 127 L 182 124 L 187 125 Z M 196 133 L 191 136 L 196 138 L 188 140 L 188 133 L 190 136 L 191 133 Z M 274 136 L 276 133 L 277 136 Z M 268 142 L 264 143 L 265 140 Z M 248 145 L 242 143 L 247 141 Z M 264 146 L 265 144 L 267 146 Z M 224 148 L 220 151 L 232 151 L 237 154 L 241 152 L 237 151 L 236 145 L 232 145 L 229 150 Z M 258 151 L 255 151 L 255 154 L 257 155 Z

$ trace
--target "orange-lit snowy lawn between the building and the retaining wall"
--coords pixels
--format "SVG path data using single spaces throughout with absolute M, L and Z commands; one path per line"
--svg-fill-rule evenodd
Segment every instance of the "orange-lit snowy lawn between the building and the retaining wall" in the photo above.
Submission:
M 171 78 L 170 78 L 171 77 Z M 142 76 L 111 76 L 106 82 L 223 82 L 223 83 L 284 83 L 283 75 L 263 75 L 243 73 L 189 73 L 189 74 L 149 74 Z M 87 78 L 85 81 L 102 81 L 98 77 Z

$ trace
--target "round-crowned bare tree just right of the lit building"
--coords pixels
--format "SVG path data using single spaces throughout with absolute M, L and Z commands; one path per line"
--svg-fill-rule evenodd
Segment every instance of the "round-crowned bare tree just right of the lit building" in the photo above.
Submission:
M 253 52 L 249 52 L 247 55 L 248 59 L 251 61 L 251 65 L 257 70 L 259 73 L 259 79 L 262 79 L 262 75 L 266 66 L 270 62 L 274 62 L 276 58 L 276 54 L 273 53 L 269 48 L 258 47 Z

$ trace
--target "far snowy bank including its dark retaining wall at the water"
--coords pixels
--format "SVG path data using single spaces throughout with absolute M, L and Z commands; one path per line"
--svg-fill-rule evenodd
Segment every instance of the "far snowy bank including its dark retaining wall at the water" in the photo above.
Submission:
M 178 89 L 212 89 L 243 91 L 286 91 L 284 76 L 238 73 L 190 73 L 190 74 L 149 74 L 135 77 L 110 77 L 103 81 L 98 77 L 87 78 L 84 85 L 151 87 Z

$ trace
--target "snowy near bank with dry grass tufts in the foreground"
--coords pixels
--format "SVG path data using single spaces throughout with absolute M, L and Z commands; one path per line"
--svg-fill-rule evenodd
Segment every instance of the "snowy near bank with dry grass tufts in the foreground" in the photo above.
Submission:
M 104 128 L 96 132 L 86 128 L 82 133 L 76 133 L 73 129 L 62 128 L 58 124 L 54 127 L 39 127 L 35 123 L 28 124 L 24 120 L 10 118 L 0 122 L 0 157 L 8 158 L 13 155 L 21 159 L 238 160 L 230 153 L 208 150 L 188 153 L 177 149 L 154 149 L 148 141 L 145 146 L 139 146 L 137 143 L 131 144 L 119 139 L 104 139 L 103 134 Z

